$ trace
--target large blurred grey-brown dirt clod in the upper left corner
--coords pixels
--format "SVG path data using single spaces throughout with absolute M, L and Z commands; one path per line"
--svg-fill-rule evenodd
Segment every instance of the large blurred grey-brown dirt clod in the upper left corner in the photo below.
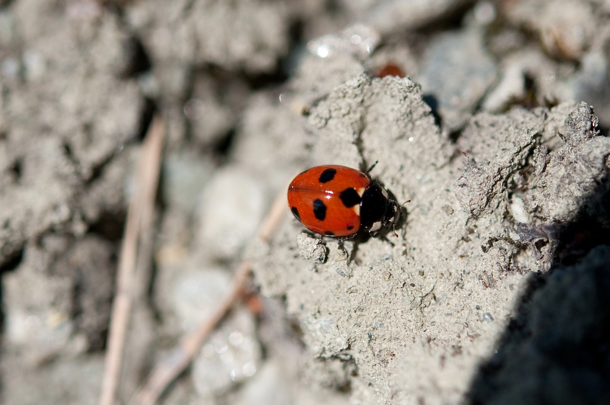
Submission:
M 135 80 L 120 78 L 128 35 L 117 16 L 102 10 L 92 24 L 46 0 L 8 7 L 9 45 L 26 62 L 23 82 L 0 79 L 0 262 L 45 231 L 86 230 L 79 200 L 137 135 L 143 105 Z

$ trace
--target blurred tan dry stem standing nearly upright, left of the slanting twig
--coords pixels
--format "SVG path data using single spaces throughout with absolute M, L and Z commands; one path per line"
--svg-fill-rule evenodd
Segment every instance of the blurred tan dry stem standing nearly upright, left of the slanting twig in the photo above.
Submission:
M 154 199 L 159 183 L 159 168 L 165 128 L 161 118 L 153 119 L 138 161 L 137 177 L 129 209 L 127 224 L 121 245 L 117 269 L 117 292 L 112 303 L 112 315 L 106 350 L 106 367 L 102 380 L 100 405 L 114 405 L 121 370 L 123 345 L 129 320 L 133 294 L 134 268 L 137 259 L 138 237 L 142 228 L 149 228 L 143 220 L 151 220 Z

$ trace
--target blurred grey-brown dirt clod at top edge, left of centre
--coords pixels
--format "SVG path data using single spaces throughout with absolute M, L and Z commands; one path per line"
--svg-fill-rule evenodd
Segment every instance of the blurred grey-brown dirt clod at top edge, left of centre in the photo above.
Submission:
M 213 63 L 270 72 L 287 52 L 289 13 L 281 1 L 135 2 L 127 19 L 157 65 L 180 70 Z

